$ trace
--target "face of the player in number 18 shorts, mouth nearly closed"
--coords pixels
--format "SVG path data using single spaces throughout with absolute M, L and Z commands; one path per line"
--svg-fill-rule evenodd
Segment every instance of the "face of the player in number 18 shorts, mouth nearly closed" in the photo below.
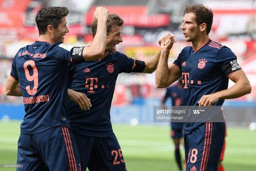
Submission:
M 197 25 L 194 13 L 185 13 L 182 20 L 181 30 L 185 41 L 195 41 L 200 34 L 200 26 Z

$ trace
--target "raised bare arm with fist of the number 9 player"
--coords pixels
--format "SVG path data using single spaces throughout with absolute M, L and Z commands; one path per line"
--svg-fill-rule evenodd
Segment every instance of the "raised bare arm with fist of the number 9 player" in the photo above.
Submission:
M 104 7 L 97 7 L 94 12 L 97 22 L 97 33 L 93 38 L 90 46 L 83 48 L 83 59 L 85 61 L 91 61 L 102 58 L 106 47 L 106 20 L 109 16 L 108 9 Z

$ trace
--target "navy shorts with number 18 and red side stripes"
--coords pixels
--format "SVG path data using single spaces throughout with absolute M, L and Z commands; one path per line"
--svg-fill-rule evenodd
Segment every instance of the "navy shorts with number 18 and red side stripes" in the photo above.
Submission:
M 224 144 L 225 123 L 205 123 L 185 134 L 187 171 L 216 171 Z

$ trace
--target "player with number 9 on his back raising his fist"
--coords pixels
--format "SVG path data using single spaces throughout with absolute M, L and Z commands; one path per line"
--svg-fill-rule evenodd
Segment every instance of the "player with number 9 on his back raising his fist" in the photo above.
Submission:
M 35 17 L 39 38 L 20 48 L 7 78 L 7 95 L 23 96 L 26 115 L 20 125 L 17 170 L 80 170 L 68 122 L 68 63 L 102 57 L 108 10 L 97 7 L 97 35 L 89 47 L 63 44 L 69 32 L 66 7 L 44 7 Z

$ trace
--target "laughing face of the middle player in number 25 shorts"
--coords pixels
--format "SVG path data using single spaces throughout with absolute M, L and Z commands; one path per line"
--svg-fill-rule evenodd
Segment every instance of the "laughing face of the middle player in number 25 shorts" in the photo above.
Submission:
M 114 25 L 108 36 L 106 36 L 106 52 L 114 54 L 116 51 L 116 44 L 123 41 L 121 37 L 121 26 Z

